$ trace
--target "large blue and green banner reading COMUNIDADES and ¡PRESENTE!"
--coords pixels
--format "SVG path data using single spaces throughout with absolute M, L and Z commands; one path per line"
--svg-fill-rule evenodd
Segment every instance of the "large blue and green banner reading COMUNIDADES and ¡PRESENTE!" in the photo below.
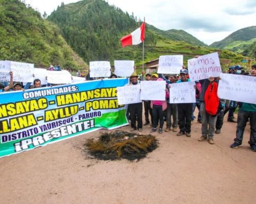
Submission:
M 0 94 L 0 157 L 129 124 L 116 94 L 127 83 L 96 80 Z

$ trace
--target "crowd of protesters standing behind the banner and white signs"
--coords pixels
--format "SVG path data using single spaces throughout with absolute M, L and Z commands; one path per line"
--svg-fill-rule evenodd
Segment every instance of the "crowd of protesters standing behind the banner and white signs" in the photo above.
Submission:
M 50 66 L 54 70 L 55 66 Z M 49 68 L 49 70 L 50 70 Z M 142 72 L 141 80 L 152 80 L 152 81 L 165 81 L 165 97 L 166 100 L 144 100 L 143 103 L 129 104 L 126 116 L 130 120 L 131 131 L 138 130 L 142 132 L 142 126 L 148 125 L 151 128 L 151 133 L 157 131 L 161 134 L 163 133 L 164 120 L 166 121 L 165 132 L 173 131 L 179 132 L 177 136 L 186 135 L 191 137 L 191 124 L 195 120 L 194 111 L 198 108 L 199 113 L 197 115 L 197 122 L 202 123 L 202 136 L 198 141 L 207 140 L 210 144 L 214 144 L 214 133 L 221 133 L 221 128 L 223 125 L 223 117 L 228 113 L 228 122 L 237 123 L 236 138 L 234 143 L 230 145 L 231 148 L 237 148 L 242 146 L 244 129 L 247 122 L 250 122 L 251 133 L 249 145 L 252 151 L 256 151 L 256 104 L 240 103 L 239 101 L 229 101 L 225 99 L 218 98 L 217 89 L 219 78 L 210 77 L 209 79 L 204 79 L 195 82 L 195 92 L 196 92 L 196 103 L 179 103 L 170 104 L 169 103 L 169 92 L 172 89 L 173 83 L 183 83 L 190 81 L 188 70 L 180 70 L 180 74 L 169 74 L 163 76 L 162 74 L 146 74 Z M 56 66 L 55 69 L 61 70 L 60 66 Z M 243 67 L 231 66 L 228 70 L 229 74 L 244 74 L 256 77 L 256 64 L 251 66 L 250 73 L 245 72 Z M 78 71 L 77 75 L 79 77 L 85 77 L 86 80 L 93 80 L 90 77 L 90 73 L 86 76 L 82 76 Z M 145 78 L 144 78 L 145 77 Z M 116 74 L 111 74 L 109 78 L 117 78 Z M 132 73 L 130 77 L 130 84 L 136 85 L 139 83 L 139 76 L 137 73 Z M 35 79 L 33 85 L 31 83 L 26 83 L 22 86 L 21 82 L 13 82 L 13 73 L 10 72 L 10 82 L 3 82 L 1 89 L 3 91 L 18 91 L 25 90 L 29 88 L 40 88 L 42 87 L 41 81 Z M 208 98 L 211 96 L 211 100 Z M 143 104 L 143 105 L 142 105 Z M 144 106 L 145 113 L 145 123 L 142 122 L 142 108 Z M 239 107 L 237 121 L 235 121 L 234 113 L 236 108 Z

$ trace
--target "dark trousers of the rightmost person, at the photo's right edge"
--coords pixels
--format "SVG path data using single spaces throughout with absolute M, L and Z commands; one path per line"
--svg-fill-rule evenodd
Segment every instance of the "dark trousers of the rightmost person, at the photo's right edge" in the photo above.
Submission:
M 250 144 L 256 145 L 256 112 L 250 111 L 242 111 L 239 109 L 238 117 L 237 117 L 237 128 L 236 128 L 236 138 L 235 141 L 239 144 L 242 144 L 244 129 L 246 123 L 250 118 L 250 125 L 251 125 L 251 133 L 250 133 Z

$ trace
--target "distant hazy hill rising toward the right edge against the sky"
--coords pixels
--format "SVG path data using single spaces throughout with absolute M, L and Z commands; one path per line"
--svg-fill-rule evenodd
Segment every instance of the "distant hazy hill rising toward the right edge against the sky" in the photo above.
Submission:
M 245 56 L 256 57 L 256 26 L 243 28 L 231 33 L 225 39 L 211 44 L 211 47 L 228 49 Z

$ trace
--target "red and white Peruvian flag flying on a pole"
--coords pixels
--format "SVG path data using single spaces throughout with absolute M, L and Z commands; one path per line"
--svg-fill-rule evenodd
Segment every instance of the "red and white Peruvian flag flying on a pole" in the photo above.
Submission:
M 140 27 L 134 30 L 131 34 L 121 38 L 122 47 L 127 45 L 138 45 L 142 43 L 145 39 L 145 22 L 143 22 Z

